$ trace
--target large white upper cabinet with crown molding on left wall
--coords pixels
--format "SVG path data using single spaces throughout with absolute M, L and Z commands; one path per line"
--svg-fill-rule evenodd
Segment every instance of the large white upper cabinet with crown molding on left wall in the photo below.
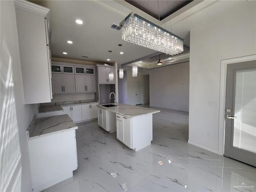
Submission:
M 51 102 L 52 82 L 48 40 L 49 9 L 28 1 L 14 1 L 24 104 Z

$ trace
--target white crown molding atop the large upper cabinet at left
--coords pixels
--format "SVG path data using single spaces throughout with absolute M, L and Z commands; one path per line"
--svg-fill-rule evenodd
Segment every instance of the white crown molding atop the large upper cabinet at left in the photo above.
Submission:
M 19 8 L 25 11 L 29 11 L 38 15 L 47 16 L 50 12 L 50 9 L 34 4 L 32 2 L 26 0 L 15 0 L 14 1 L 15 8 Z

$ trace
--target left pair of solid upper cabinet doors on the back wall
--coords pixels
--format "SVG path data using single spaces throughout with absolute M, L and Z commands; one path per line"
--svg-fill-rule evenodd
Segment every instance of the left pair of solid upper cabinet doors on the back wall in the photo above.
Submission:
M 52 74 L 54 94 L 74 93 L 75 77 L 73 74 Z

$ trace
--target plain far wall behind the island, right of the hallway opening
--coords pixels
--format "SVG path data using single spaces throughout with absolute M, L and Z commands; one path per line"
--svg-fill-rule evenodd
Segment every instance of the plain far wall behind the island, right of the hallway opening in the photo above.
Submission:
M 189 62 L 150 70 L 150 106 L 188 111 Z

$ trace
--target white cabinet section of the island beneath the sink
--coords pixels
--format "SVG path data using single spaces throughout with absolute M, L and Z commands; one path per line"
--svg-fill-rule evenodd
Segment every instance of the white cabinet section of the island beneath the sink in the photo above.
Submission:
M 110 133 L 116 132 L 116 114 L 98 107 L 98 125 Z

